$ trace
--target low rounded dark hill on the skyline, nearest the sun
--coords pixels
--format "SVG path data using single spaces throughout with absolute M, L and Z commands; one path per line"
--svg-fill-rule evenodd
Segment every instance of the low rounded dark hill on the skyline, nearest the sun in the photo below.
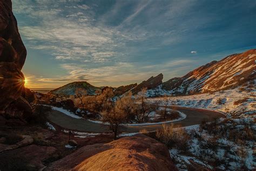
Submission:
M 84 88 L 89 95 L 96 94 L 96 90 L 100 90 L 99 87 L 95 87 L 86 81 L 77 81 L 56 88 L 55 90 L 51 90 L 49 93 L 56 95 L 75 95 L 77 88 Z

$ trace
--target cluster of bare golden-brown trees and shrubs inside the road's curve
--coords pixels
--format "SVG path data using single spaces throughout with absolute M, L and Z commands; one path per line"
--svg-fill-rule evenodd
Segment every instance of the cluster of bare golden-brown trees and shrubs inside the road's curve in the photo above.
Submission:
M 122 124 L 140 124 L 145 122 L 160 122 L 180 118 L 180 114 L 169 108 L 170 100 L 160 106 L 152 104 L 147 97 L 147 90 L 143 88 L 137 95 L 127 93 L 115 97 L 113 88 L 106 87 L 98 95 L 87 95 L 86 91 L 78 89 L 76 95 L 70 99 L 79 108 L 77 114 L 86 119 L 100 120 L 110 126 L 110 130 L 117 138 Z

